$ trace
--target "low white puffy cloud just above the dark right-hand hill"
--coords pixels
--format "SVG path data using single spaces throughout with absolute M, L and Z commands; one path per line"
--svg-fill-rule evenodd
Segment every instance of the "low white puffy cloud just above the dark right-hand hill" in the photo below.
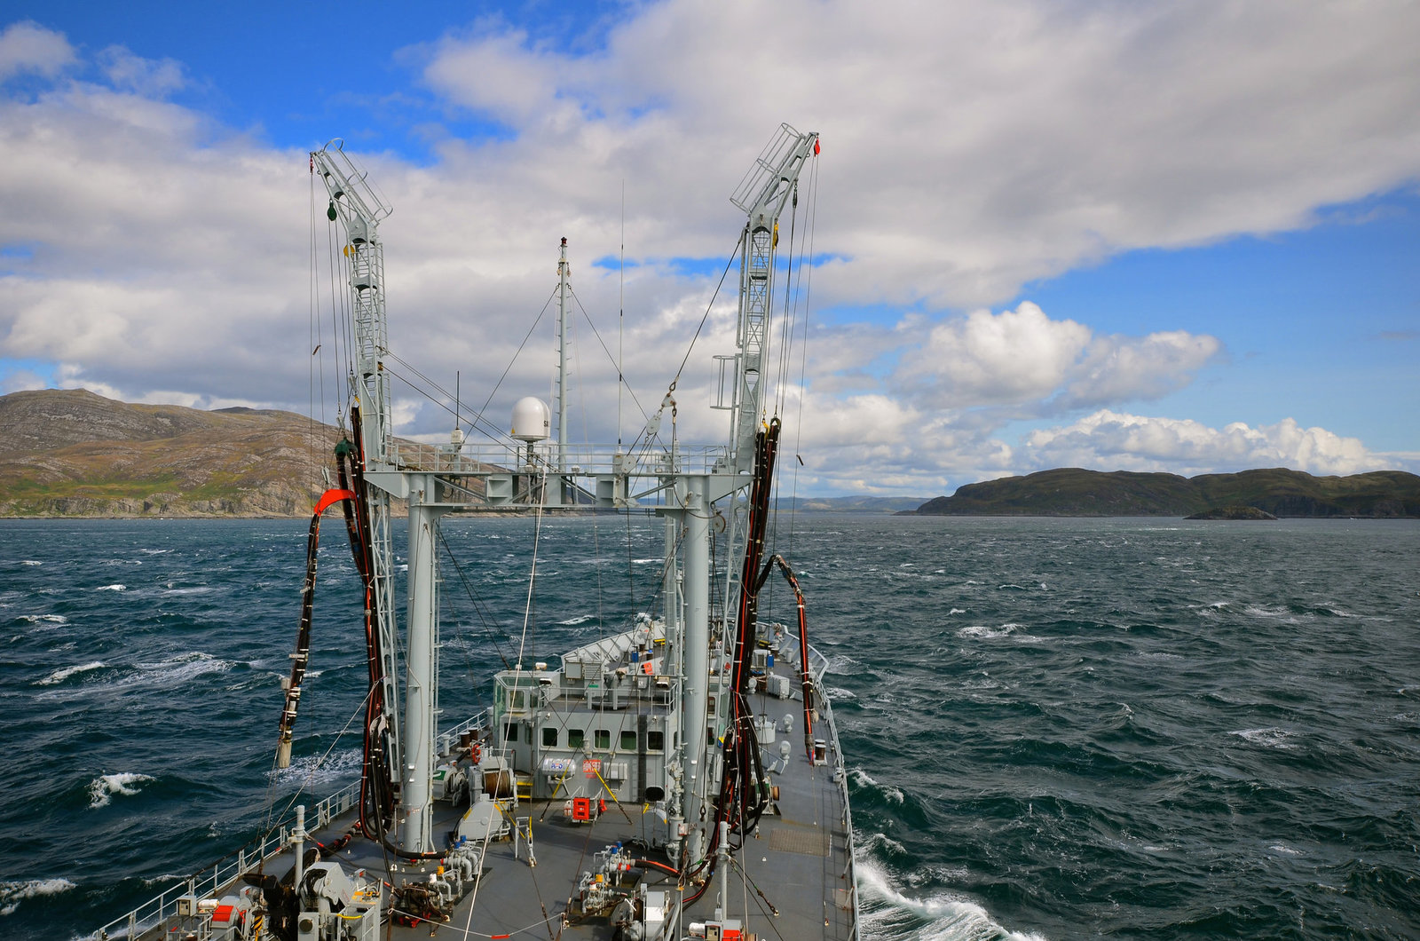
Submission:
M 1082 466 L 1186 475 L 1247 468 L 1345 475 L 1394 466 L 1356 438 L 1342 438 L 1325 428 L 1302 428 L 1292 418 L 1257 428 L 1233 422 L 1218 429 L 1191 419 L 1109 409 L 1064 428 L 1031 432 L 1021 456 L 1032 469 Z

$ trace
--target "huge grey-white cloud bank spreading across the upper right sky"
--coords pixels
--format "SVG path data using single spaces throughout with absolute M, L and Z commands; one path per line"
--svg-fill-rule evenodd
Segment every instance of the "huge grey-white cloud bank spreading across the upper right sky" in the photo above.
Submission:
M 792 41 L 744 43 L 748 23 Z M 511 124 L 483 149 L 524 179 L 595 190 L 609 165 L 655 193 L 682 227 L 656 243 L 672 252 L 706 252 L 724 217 L 706 183 L 792 117 L 834 155 L 821 237 L 852 263 L 824 287 L 976 306 L 1119 250 L 1302 226 L 1413 178 L 1416 30 L 1420 11 L 1393 6 L 673 0 L 594 55 L 497 26 L 447 37 L 425 77 Z M 572 178 L 555 152 L 579 156 Z

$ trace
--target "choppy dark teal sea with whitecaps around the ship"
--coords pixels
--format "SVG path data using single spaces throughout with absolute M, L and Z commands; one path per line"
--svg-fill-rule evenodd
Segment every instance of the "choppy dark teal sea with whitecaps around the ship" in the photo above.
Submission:
M 87 937 L 358 775 L 327 530 L 277 772 L 304 522 L 0 522 L 0 937 Z M 444 719 L 655 611 L 662 533 L 446 520 Z M 799 515 L 775 547 L 829 661 L 865 938 L 1420 937 L 1420 522 Z

